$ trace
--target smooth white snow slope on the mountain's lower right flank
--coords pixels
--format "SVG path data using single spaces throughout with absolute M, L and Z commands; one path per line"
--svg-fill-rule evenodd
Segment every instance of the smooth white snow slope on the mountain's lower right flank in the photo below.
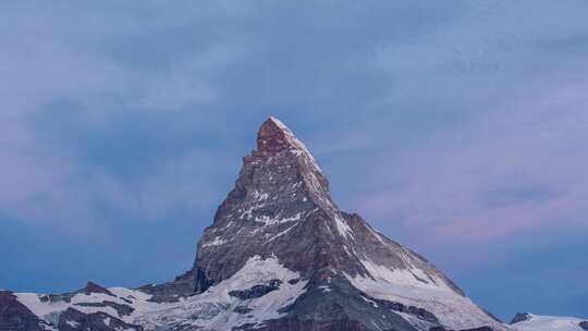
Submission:
M 437 284 L 415 283 L 415 270 L 391 270 L 366 261 L 364 265 L 373 279 L 348 275 L 347 279 L 371 297 L 422 308 L 432 312 L 449 329 L 489 326 L 495 330 L 509 330 L 491 319 L 470 298 L 455 293 L 441 280 Z

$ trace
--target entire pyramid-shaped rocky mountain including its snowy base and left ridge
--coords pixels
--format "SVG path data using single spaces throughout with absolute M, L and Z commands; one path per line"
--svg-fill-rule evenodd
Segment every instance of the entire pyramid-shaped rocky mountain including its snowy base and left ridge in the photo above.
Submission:
M 3 330 L 509 330 L 424 257 L 339 209 L 305 145 L 269 118 L 175 280 L 0 293 Z

